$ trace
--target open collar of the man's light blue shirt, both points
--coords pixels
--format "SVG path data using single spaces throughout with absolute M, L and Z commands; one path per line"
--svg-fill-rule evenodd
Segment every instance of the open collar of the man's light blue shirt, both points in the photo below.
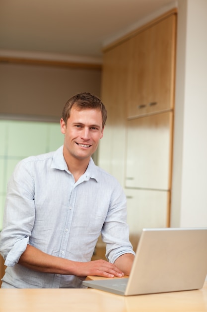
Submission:
M 63 146 L 61 146 L 57 151 L 54 152 L 51 168 L 69 171 L 66 160 L 63 156 Z M 92 178 L 98 182 L 98 177 L 99 177 L 98 166 L 95 165 L 91 157 L 88 167 L 84 172 L 84 174 L 82 175 L 82 178 L 83 180 L 89 180 L 89 178 Z

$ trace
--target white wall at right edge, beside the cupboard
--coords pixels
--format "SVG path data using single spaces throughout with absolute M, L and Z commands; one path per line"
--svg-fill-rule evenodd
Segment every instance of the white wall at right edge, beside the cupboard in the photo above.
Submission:
M 178 1 L 171 226 L 207 226 L 207 0 Z

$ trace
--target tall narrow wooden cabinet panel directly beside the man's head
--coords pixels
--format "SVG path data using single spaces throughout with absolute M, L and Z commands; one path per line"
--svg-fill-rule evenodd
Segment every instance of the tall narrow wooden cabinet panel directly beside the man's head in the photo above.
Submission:
M 128 61 L 127 42 L 104 53 L 101 99 L 108 111 L 108 117 L 98 149 L 99 166 L 114 175 L 122 185 L 124 185 Z

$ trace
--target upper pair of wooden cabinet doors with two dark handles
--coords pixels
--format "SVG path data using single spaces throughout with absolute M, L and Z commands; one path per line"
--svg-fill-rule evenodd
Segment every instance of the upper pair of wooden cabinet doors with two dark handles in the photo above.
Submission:
M 175 34 L 173 14 L 129 40 L 128 117 L 173 108 Z

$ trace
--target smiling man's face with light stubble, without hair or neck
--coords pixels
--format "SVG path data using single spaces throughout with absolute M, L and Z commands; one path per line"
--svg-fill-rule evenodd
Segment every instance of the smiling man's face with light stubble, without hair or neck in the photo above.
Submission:
M 67 126 L 61 119 L 61 132 L 65 134 L 64 156 L 89 160 L 103 137 L 101 111 L 72 107 Z

